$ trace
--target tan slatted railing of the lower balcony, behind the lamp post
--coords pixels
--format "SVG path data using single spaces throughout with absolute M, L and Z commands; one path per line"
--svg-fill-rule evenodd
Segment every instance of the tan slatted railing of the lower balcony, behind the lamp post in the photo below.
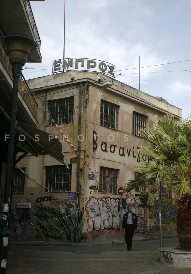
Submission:
M 12 66 L 9 63 L 9 57 L 7 54 L 7 49 L 3 47 L 0 43 L 0 60 L 3 63 L 4 67 L 6 68 L 7 72 L 9 73 L 10 77 L 13 80 L 13 74 L 12 74 Z M 38 104 L 30 91 L 30 88 L 28 87 L 28 84 L 26 80 L 24 79 L 24 76 L 20 76 L 19 86 L 18 90 L 20 94 L 22 95 L 22 98 L 26 102 L 27 106 L 30 108 L 30 111 L 34 115 L 34 117 L 37 119 L 37 111 L 38 111 Z

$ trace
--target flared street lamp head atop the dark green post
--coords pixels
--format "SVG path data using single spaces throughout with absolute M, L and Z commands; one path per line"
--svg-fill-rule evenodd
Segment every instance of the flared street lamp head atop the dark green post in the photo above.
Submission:
M 9 62 L 11 64 L 13 62 L 21 63 L 23 66 L 30 51 L 37 47 L 34 40 L 21 35 L 5 36 L 1 39 L 1 44 L 7 48 Z

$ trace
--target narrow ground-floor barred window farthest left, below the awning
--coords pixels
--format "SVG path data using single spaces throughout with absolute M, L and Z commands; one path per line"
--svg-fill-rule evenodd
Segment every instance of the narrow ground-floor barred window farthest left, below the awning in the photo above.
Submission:
M 25 172 L 25 168 L 21 168 Z M 25 174 L 19 168 L 14 169 L 13 193 L 24 193 Z

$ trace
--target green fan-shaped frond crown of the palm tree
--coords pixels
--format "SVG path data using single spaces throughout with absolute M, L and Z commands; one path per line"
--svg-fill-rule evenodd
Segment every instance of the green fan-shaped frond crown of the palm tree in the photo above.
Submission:
M 161 180 L 177 191 L 179 197 L 184 192 L 191 193 L 191 118 L 157 117 L 154 127 L 142 130 L 141 136 L 150 145 L 141 148 L 139 154 L 153 161 L 140 162 L 136 171 L 142 175 L 141 179 L 127 182 L 125 191 Z

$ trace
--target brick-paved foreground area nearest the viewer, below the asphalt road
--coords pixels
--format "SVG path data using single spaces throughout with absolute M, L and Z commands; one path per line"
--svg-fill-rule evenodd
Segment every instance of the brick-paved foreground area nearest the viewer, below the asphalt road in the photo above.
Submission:
M 178 272 L 178 271 L 179 272 Z M 9 253 L 7 274 L 190 274 L 191 268 L 168 267 L 159 251 L 106 251 L 99 254 L 18 251 Z

